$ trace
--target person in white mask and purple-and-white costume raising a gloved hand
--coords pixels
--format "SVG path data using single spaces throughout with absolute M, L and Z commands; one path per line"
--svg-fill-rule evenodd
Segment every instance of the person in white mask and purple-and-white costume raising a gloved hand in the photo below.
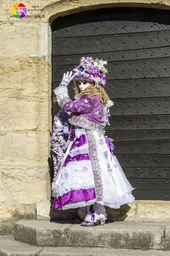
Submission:
M 72 130 L 58 177 L 52 186 L 55 209 L 78 208 L 70 220 L 83 226 L 103 225 L 104 206 L 114 209 L 131 203 L 133 187 L 113 154 L 112 140 L 104 136 L 109 124 L 109 100 L 104 67 L 107 61 L 83 57 L 80 64 L 65 73 L 54 92 L 58 104 L 71 112 Z M 73 79 L 75 100 L 69 99 L 67 85 Z

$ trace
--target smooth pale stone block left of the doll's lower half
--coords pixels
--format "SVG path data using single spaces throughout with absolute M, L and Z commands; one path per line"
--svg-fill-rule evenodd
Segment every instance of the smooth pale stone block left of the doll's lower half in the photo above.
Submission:
M 1 166 L 46 166 L 49 157 L 49 133 L 26 131 L 1 134 Z M 8 168 L 8 167 L 7 167 Z

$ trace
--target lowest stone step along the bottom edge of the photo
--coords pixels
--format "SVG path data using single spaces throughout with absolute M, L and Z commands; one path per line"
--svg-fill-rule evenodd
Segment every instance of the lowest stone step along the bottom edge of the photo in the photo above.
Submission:
M 170 256 L 170 251 L 100 247 L 38 247 L 0 236 L 0 256 Z

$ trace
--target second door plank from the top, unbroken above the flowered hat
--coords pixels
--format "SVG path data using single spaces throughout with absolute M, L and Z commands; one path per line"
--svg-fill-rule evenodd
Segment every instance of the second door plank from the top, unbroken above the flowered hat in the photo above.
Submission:
M 90 44 L 90 50 L 89 50 Z M 54 55 L 109 52 L 116 49 L 130 50 L 170 45 L 170 30 L 161 32 L 140 32 L 134 34 L 99 35 L 86 37 L 53 38 Z M 63 49 L 63 50 L 61 50 Z

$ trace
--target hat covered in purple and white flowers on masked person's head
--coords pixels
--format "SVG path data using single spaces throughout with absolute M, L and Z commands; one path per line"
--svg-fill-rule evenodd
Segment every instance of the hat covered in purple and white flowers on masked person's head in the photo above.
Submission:
M 75 67 L 75 80 L 94 81 L 95 86 L 106 84 L 106 73 L 107 69 L 104 67 L 107 65 L 107 61 L 99 61 L 98 58 L 95 60 L 92 57 L 82 57 L 80 64 Z

